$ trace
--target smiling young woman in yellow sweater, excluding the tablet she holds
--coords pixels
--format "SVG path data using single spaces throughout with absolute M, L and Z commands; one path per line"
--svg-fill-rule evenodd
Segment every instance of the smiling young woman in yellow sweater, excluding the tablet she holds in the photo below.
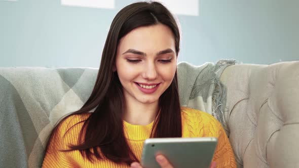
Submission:
M 142 145 L 151 137 L 216 137 L 212 166 L 236 167 L 220 123 L 180 107 L 179 42 L 175 19 L 160 3 L 122 9 L 111 23 L 90 98 L 56 125 L 43 167 L 141 167 Z M 172 167 L 163 155 L 156 159 Z

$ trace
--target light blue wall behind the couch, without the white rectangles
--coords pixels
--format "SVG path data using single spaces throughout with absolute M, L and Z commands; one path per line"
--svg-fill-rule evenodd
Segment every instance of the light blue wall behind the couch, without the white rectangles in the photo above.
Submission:
M 0 66 L 98 67 L 115 9 L 61 6 L 56 0 L 0 1 Z M 299 60 L 299 1 L 199 1 L 182 16 L 179 61 L 233 58 L 271 64 Z

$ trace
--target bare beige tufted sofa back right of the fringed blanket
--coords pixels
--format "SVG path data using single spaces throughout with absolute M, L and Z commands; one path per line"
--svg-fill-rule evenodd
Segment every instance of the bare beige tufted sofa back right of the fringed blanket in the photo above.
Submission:
M 299 62 L 227 67 L 227 133 L 239 167 L 299 167 Z

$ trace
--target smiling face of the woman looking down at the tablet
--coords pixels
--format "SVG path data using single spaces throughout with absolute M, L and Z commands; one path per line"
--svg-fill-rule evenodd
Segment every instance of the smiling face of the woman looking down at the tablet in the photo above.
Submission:
M 176 71 L 175 40 L 163 24 L 139 27 L 119 43 L 116 70 L 126 101 L 157 103 Z

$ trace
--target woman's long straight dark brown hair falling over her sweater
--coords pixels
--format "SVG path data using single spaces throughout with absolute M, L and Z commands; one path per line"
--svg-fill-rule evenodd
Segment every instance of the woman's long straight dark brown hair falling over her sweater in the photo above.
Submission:
M 79 145 L 69 146 L 70 150 L 79 150 L 90 161 L 93 161 L 92 155 L 96 156 L 97 159 L 107 158 L 118 163 L 131 164 L 133 161 L 138 161 L 130 149 L 123 131 L 123 89 L 113 67 L 120 39 L 137 27 L 155 24 L 164 24 L 172 30 L 177 56 L 180 41 L 179 29 L 172 14 L 162 4 L 138 2 L 126 6 L 116 15 L 107 35 L 93 91 L 80 110 L 68 115 L 69 117 L 95 109 L 84 121 L 78 139 Z M 50 139 L 57 133 L 59 125 L 66 118 L 63 118 L 56 125 Z M 156 118 L 151 137 L 182 136 L 176 73 L 169 88 L 159 98 L 159 113 Z

